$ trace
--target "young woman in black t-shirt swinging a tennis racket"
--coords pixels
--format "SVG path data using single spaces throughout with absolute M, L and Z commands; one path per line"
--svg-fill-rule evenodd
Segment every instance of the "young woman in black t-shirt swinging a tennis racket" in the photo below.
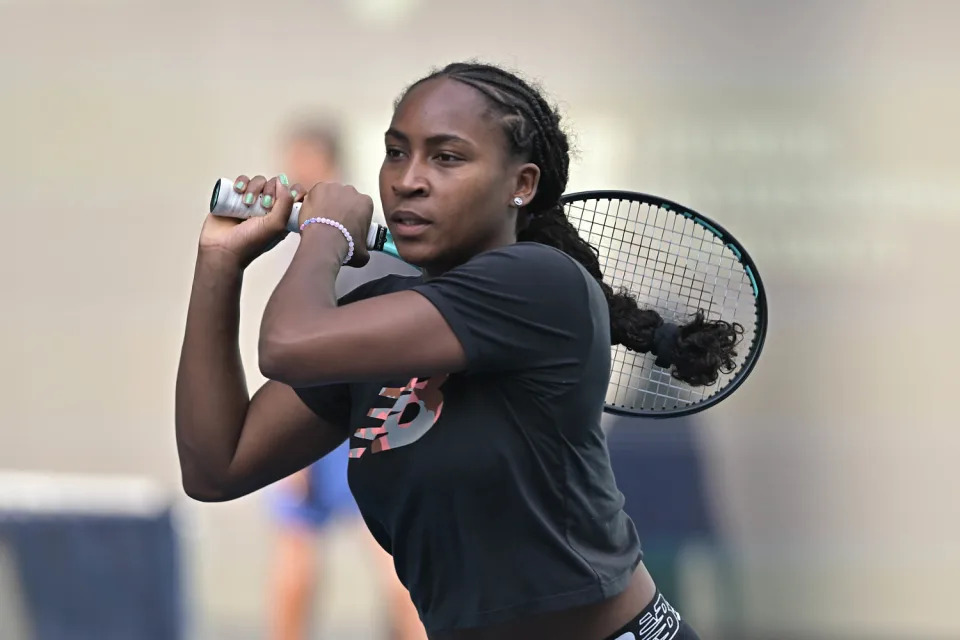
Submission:
M 240 176 L 271 213 L 206 219 L 177 380 L 186 492 L 233 499 L 349 438 L 351 489 L 431 639 L 696 638 L 643 566 L 600 429 L 610 345 L 650 351 L 663 323 L 602 282 L 564 216 L 559 116 L 513 74 L 453 64 L 404 93 L 385 142 L 384 215 L 422 277 L 336 299 L 341 265 L 368 258 L 373 203 L 351 187 Z M 250 399 L 243 269 L 301 199 Z M 699 384 L 736 339 L 696 318 L 657 344 Z

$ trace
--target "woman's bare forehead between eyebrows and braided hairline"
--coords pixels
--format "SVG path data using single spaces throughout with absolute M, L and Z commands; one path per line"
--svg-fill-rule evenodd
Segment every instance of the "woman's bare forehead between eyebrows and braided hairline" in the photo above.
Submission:
M 434 78 L 411 89 L 397 106 L 391 126 L 408 136 L 454 134 L 477 144 L 499 142 L 503 135 L 486 96 L 450 78 Z

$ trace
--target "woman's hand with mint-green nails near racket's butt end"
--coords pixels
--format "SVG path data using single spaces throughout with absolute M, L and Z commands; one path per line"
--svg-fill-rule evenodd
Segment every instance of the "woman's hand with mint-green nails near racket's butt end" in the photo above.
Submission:
M 241 268 L 247 267 L 261 254 L 277 246 L 287 233 L 290 208 L 296 199 L 302 199 L 304 189 L 300 185 L 287 187 L 286 176 L 267 180 L 256 176 L 238 176 L 233 188 L 244 197 L 244 204 L 252 206 L 260 200 L 260 206 L 269 213 L 241 220 L 208 214 L 200 231 L 201 252 L 224 252 L 234 257 Z

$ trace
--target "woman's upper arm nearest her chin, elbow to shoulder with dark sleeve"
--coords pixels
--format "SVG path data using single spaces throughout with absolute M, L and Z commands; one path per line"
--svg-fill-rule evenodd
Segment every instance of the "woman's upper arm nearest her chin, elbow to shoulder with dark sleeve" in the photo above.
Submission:
M 275 345 L 282 355 L 264 374 L 306 386 L 568 365 L 582 358 L 592 330 L 588 299 L 570 258 L 512 245 L 411 290 L 305 319 Z

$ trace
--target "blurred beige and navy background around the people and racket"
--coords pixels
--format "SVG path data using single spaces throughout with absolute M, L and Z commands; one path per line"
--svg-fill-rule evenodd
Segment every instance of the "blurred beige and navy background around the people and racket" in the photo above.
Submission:
M 763 276 L 766 347 L 732 398 L 606 425 L 705 640 L 960 637 L 958 24 L 950 1 L 0 0 L 0 638 L 267 637 L 262 497 L 179 487 L 211 188 L 283 170 L 285 123 L 322 113 L 377 200 L 392 101 L 465 58 L 561 105 L 569 191 L 686 204 Z M 295 242 L 245 279 L 251 389 Z M 653 531 L 651 487 L 688 516 Z M 312 637 L 386 638 L 366 542 L 322 535 Z M 105 599 L 152 635 L 91 631 Z

